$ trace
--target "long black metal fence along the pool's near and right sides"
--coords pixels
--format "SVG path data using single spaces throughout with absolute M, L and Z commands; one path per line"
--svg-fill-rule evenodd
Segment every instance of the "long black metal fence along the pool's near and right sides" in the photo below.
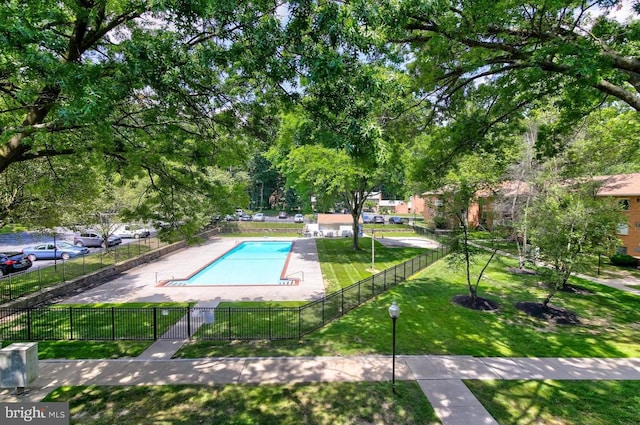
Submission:
M 445 255 L 445 248 L 427 251 L 300 307 L 0 308 L 0 339 L 298 339 L 398 285 Z

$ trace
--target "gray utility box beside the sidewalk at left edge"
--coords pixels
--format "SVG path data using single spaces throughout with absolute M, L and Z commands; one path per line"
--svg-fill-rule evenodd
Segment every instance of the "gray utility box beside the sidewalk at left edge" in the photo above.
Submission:
M 37 378 L 37 342 L 16 342 L 0 350 L 0 388 L 24 388 Z

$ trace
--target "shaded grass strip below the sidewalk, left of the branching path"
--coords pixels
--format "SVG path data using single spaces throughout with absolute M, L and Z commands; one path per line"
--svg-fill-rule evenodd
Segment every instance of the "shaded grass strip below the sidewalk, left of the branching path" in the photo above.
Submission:
M 60 387 L 44 401 L 70 406 L 70 423 L 415 424 L 441 423 L 415 382 L 290 385 Z

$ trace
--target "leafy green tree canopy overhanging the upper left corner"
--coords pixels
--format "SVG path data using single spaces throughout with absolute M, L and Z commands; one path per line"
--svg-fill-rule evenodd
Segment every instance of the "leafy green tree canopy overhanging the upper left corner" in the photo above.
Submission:
M 140 212 L 171 216 L 180 206 L 189 218 L 192 199 L 181 195 L 211 197 L 207 176 L 244 163 L 247 143 L 273 124 L 269 88 L 292 75 L 279 62 L 278 6 L 3 2 L 0 174 L 69 157 L 124 180 L 147 178 L 155 196 Z

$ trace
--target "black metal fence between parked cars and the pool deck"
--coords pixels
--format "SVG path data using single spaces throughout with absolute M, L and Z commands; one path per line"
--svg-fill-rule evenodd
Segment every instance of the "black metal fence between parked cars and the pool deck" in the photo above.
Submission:
M 28 271 L 8 274 L 0 278 L 0 303 L 16 300 L 165 245 L 167 243 L 158 238 L 137 239 L 135 242 L 100 250 L 93 254 L 69 260 L 57 260 L 56 264 L 46 267 L 39 267 L 36 262 Z

